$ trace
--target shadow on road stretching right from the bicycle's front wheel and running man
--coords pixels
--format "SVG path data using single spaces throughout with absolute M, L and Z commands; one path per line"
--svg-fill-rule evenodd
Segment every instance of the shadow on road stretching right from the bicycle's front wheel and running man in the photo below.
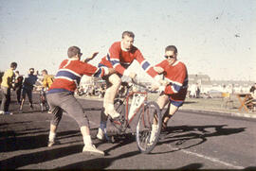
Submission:
M 152 154 L 164 154 L 181 149 L 191 148 L 208 141 L 210 137 L 229 136 L 245 131 L 246 128 L 225 128 L 227 125 L 211 126 L 175 126 L 168 127 L 166 132 L 160 134 L 157 145 L 174 143 L 171 151 L 157 152 Z

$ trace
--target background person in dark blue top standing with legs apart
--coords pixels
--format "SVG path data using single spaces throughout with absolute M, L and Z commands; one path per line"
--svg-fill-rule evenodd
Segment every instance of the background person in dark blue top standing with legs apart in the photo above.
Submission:
M 26 94 L 29 101 L 30 110 L 33 110 L 33 102 L 32 102 L 32 91 L 34 88 L 34 84 L 36 83 L 37 76 L 34 75 L 34 68 L 30 68 L 27 77 L 24 78 L 23 87 L 22 87 L 22 101 L 20 106 L 20 112 L 23 110 L 23 105 L 25 102 Z

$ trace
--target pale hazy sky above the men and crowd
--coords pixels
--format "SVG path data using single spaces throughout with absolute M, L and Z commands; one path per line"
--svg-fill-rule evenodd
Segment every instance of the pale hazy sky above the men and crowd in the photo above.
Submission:
M 99 51 L 97 65 L 132 30 L 152 64 L 174 44 L 189 74 L 256 81 L 255 16 L 255 0 L 0 0 L 0 70 L 17 61 L 22 74 L 54 74 L 71 45 L 83 57 Z M 138 67 L 130 69 L 148 78 Z

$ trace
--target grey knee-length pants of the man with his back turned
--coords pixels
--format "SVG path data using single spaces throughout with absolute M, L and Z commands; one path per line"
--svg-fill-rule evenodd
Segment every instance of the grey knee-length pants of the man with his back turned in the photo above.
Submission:
M 65 111 L 77 121 L 80 128 L 83 126 L 89 127 L 89 120 L 86 114 L 84 115 L 83 113 L 82 105 L 78 102 L 73 94 L 70 94 L 69 92 L 62 92 L 46 94 L 46 96 L 51 109 L 50 111 L 53 114 L 53 118 L 51 120 L 52 125 L 59 125 L 63 112 Z

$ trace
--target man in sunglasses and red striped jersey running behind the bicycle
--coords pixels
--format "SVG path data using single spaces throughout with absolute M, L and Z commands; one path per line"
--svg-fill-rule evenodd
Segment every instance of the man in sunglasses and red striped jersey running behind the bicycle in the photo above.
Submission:
M 167 128 L 169 119 L 181 107 L 186 98 L 188 89 L 188 72 L 186 65 L 177 60 L 177 48 L 169 45 L 165 48 L 165 60 L 156 64 L 154 69 L 159 75 L 163 75 L 164 79 L 160 80 L 161 85 L 156 85 L 153 89 L 159 89 L 161 94 L 157 99 L 157 104 L 162 110 L 169 102 L 168 110 L 163 115 L 162 129 Z M 156 127 L 156 125 L 155 125 Z M 153 127 L 154 131 L 154 127 Z M 152 133 L 154 135 L 154 133 Z

